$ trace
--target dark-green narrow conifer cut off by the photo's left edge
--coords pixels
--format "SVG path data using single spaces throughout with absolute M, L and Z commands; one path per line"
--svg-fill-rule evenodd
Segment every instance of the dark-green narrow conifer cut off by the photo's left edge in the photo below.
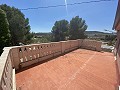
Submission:
M 10 45 L 9 24 L 5 12 L 0 9 L 0 54 L 3 48 Z

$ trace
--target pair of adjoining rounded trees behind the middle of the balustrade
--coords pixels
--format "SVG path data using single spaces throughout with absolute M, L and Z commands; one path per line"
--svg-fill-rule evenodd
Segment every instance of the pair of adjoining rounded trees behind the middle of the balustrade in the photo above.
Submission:
M 63 41 L 66 39 L 84 39 L 87 25 L 85 20 L 76 16 L 72 18 L 70 23 L 67 20 L 56 21 L 52 28 L 52 36 L 54 41 Z

